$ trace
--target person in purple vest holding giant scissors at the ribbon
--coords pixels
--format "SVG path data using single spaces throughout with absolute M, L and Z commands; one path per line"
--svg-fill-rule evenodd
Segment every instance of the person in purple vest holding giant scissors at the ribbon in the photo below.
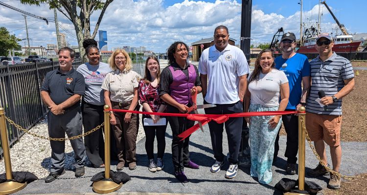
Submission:
M 201 82 L 196 66 L 188 63 L 188 47 L 184 42 L 174 42 L 168 48 L 168 64 L 162 70 L 160 79 L 160 97 L 167 103 L 168 113 L 186 113 L 192 106 L 191 95 L 201 93 Z M 184 167 L 199 169 L 199 165 L 189 158 L 189 138 L 183 141 L 179 134 L 194 125 L 194 121 L 186 117 L 168 117 L 172 129 L 172 161 L 175 177 L 180 182 L 188 182 Z

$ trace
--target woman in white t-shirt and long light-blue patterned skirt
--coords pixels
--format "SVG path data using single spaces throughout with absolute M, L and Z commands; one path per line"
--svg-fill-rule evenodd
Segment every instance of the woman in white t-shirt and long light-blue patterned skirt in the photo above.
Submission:
M 282 71 L 275 69 L 274 55 L 270 49 L 260 52 L 248 80 L 245 112 L 285 110 L 289 98 L 288 79 Z M 270 183 L 274 143 L 281 126 L 281 115 L 245 119 L 250 124 L 250 174 L 258 177 L 260 183 Z

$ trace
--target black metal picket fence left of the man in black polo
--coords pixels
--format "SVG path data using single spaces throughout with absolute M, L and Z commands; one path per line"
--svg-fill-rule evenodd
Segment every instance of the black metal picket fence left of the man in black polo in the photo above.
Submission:
M 80 59 L 75 59 L 73 68 L 81 63 Z M 27 130 L 44 117 L 47 107 L 41 99 L 41 85 L 46 73 L 58 67 L 57 61 L 0 65 L 0 107 L 4 108 L 6 117 Z M 24 132 L 8 122 L 6 127 L 9 146 L 12 146 Z

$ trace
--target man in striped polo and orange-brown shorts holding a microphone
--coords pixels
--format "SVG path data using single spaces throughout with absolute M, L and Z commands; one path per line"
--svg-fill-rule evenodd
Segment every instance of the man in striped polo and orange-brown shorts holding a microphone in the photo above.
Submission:
M 332 52 L 334 42 L 328 33 L 320 34 L 316 43 L 319 56 L 310 62 L 311 91 L 306 102 L 306 129 L 325 164 L 324 142 L 330 146 L 333 170 L 339 172 L 342 159 L 342 98 L 354 89 L 354 72 L 349 60 Z M 320 104 L 317 102 L 319 100 Z M 308 172 L 309 176 L 315 177 L 326 174 L 328 171 L 320 163 Z M 327 187 L 340 188 L 340 177 L 330 173 Z

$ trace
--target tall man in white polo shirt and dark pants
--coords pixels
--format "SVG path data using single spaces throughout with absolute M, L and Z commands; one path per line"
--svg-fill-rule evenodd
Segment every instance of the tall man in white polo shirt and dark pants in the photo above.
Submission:
M 243 98 L 247 87 L 249 64 L 242 50 L 228 44 L 229 32 L 226 26 L 214 30 L 214 45 L 205 49 L 199 60 L 204 103 L 216 104 L 206 108 L 206 114 L 233 114 L 243 112 Z M 241 142 L 242 117 L 229 118 L 224 123 L 228 137 L 229 168 L 226 178 L 237 175 L 238 151 Z M 212 173 L 218 173 L 224 164 L 222 148 L 223 123 L 209 122 L 211 145 L 215 163 Z

